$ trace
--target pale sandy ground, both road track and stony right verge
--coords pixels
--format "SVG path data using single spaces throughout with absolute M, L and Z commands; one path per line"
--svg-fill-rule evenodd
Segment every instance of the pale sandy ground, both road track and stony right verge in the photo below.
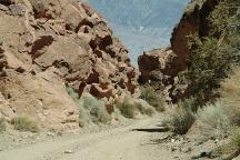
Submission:
M 0 160 L 191 160 L 202 153 L 197 159 L 208 160 L 204 154 L 217 146 L 213 140 L 197 144 L 171 137 L 160 124 L 161 119 L 156 117 L 96 133 L 32 140 L 0 149 Z

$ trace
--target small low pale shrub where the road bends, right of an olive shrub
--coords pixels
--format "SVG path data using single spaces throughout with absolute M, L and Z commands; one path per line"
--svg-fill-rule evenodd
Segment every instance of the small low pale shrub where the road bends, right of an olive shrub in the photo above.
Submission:
M 142 99 L 137 99 L 134 101 L 134 104 L 141 114 L 147 114 L 150 117 L 154 114 L 154 108 L 150 106 L 147 101 Z

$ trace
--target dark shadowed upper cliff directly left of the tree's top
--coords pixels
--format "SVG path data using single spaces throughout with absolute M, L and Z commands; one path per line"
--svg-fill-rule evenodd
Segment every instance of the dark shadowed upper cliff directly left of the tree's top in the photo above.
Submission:
M 197 33 L 200 37 L 209 34 L 208 17 L 218 4 L 219 0 L 192 0 L 180 22 L 173 29 L 171 49 L 178 56 L 176 66 L 179 71 L 186 69 L 186 58 L 189 53 L 188 36 Z

